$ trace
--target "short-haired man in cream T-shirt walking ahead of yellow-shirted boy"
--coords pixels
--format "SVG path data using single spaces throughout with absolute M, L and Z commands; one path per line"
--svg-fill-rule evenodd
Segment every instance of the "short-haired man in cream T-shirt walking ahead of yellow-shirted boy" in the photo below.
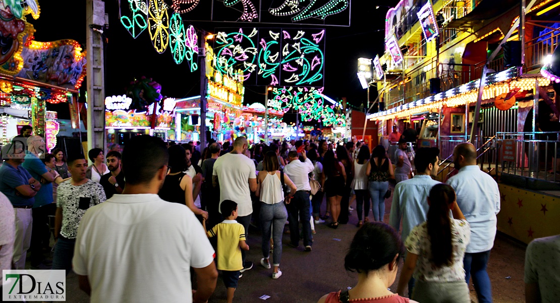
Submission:
M 253 213 L 251 192 L 256 190 L 255 163 L 244 155 L 248 147 L 247 138 L 237 137 L 234 150 L 218 157 L 212 171 L 212 184 L 214 187 L 220 184 L 220 206 L 224 200 L 237 203 L 237 222 L 245 227 L 245 238 L 249 234 L 249 223 Z M 253 262 L 245 262 L 245 256 L 245 250 L 241 250 L 243 269 L 240 272 L 253 268 Z

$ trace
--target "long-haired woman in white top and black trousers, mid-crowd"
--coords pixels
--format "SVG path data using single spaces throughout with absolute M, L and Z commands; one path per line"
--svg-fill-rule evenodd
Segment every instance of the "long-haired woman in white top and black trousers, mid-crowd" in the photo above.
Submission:
M 354 160 L 354 180 L 352 180 L 352 189 L 356 193 L 356 208 L 358 212 L 358 227 L 363 225 L 362 222 L 362 211 L 363 219 L 369 222 L 370 219 L 367 217 L 370 213 L 370 192 L 367 189 L 367 161 L 370 160 L 370 148 L 363 144 L 358 152 L 358 157 Z

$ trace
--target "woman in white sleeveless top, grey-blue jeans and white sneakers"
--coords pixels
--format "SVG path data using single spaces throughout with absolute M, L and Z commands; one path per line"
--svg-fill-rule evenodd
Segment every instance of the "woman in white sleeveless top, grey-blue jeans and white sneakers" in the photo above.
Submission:
M 264 155 L 263 170 L 259 171 L 256 176 L 256 196 L 260 199 L 259 220 L 262 226 L 263 234 L 263 257 L 260 264 L 264 268 L 270 268 L 269 252 L 270 252 L 270 229 L 272 228 L 272 239 L 274 240 L 274 250 L 272 259 L 274 261 L 274 272 L 272 278 L 277 279 L 282 275 L 278 267 L 282 257 L 282 232 L 288 218 L 286 206 L 284 206 L 284 192 L 282 189 L 281 177 L 284 178 L 284 184 L 290 187 L 290 195 L 287 202 L 290 203 L 292 195 L 296 192 L 297 187 L 287 175 L 282 174 L 278 170 L 278 158 L 276 153 L 269 151 Z

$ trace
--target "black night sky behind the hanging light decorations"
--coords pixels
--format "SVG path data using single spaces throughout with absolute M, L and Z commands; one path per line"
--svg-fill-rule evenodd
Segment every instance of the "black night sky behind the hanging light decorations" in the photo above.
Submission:
M 202 0 L 205 1 L 205 0 Z M 126 0 L 122 0 L 126 3 Z M 171 4 L 171 0 L 165 0 Z M 29 21 L 35 26 L 36 41 L 74 39 L 85 49 L 86 42 L 86 1 L 57 0 L 40 1 L 41 15 L 38 20 Z M 359 106 L 367 98 L 366 90 L 357 79 L 357 58 L 374 58 L 383 52 L 385 13 L 388 8 L 375 9 L 376 4 L 396 4 L 388 1 L 352 1 L 351 26 L 325 26 L 325 90 L 324 94 L 339 99 L 347 97 L 348 102 Z M 125 87 L 133 78 L 146 76 L 153 78 L 162 86 L 162 95 L 169 97 L 188 97 L 199 94 L 199 72 L 191 73 L 185 62 L 177 65 L 172 59 L 169 48 L 158 54 L 150 41 L 148 30 L 137 39 L 124 29 L 118 16 L 118 2 L 105 1 L 105 12 L 109 14 L 109 29 L 105 31 L 109 44 L 106 45 L 105 93 L 122 95 Z M 328 20 L 328 17 L 327 17 Z M 213 32 L 216 27 L 239 27 L 250 24 L 232 22 L 189 22 L 195 27 Z M 254 25 L 259 27 L 311 27 L 284 26 L 278 24 Z M 84 85 L 85 82 L 84 82 Z M 259 86 L 247 86 L 245 103 L 263 102 L 259 95 L 264 90 Z

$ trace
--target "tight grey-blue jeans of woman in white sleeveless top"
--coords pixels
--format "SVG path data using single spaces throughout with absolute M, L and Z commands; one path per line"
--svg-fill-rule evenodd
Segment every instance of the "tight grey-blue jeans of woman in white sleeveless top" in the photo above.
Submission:
M 276 204 L 260 202 L 259 220 L 263 231 L 263 257 L 265 259 L 270 257 L 270 228 L 272 227 L 272 239 L 276 244 L 272 251 L 274 266 L 280 266 L 280 259 L 282 258 L 282 234 L 287 218 L 288 212 L 283 202 Z

